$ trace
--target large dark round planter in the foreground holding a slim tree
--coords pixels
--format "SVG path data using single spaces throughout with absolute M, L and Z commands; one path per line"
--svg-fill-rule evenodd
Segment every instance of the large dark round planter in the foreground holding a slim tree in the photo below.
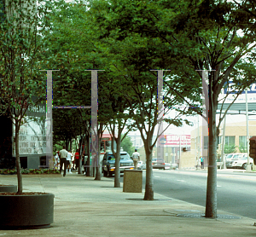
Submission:
M 0 194 L 0 228 L 48 228 L 53 223 L 54 194 Z

